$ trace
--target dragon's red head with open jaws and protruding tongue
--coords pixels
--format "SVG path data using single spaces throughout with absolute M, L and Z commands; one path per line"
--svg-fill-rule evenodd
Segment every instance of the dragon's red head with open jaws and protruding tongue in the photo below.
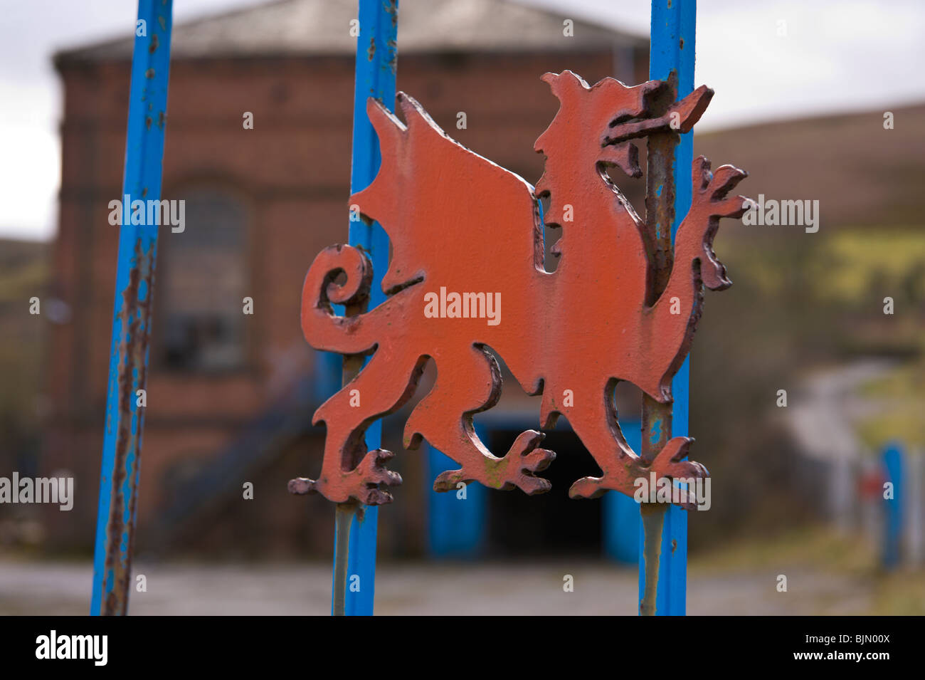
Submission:
M 706 110 L 713 91 L 697 88 L 674 102 L 672 87 L 664 80 L 648 80 L 628 87 L 605 78 L 589 86 L 572 71 L 547 73 L 560 101 L 559 112 L 534 144 L 547 157 L 547 172 L 536 183 L 536 195 L 553 189 L 549 167 L 582 167 L 598 173 L 599 167 L 619 167 L 630 177 L 641 177 L 638 151 L 632 140 L 655 132 L 687 132 Z M 590 177 L 591 175 L 587 175 Z M 545 181 L 544 181 L 545 180 Z

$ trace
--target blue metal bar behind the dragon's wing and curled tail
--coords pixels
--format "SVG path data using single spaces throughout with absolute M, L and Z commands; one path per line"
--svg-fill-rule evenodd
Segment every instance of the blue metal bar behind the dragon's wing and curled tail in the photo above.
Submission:
M 376 130 L 366 116 L 366 99 L 376 97 L 389 110 L 395 106 L 398 0 L 360 0 L 360 34 L 356 43 L 356 81 L 353 88 L 353 153 L 351 193 L 376 179 L 381 163 Z M 319 159 L 319 162 L 323 162 Z M 382 275 L 388 267 L 388 235 L 377 223 L 366 225 L 351 216 L 350 243 L 359 245 L 373 263 L 369 306 L 385 300 Z M 349 373 L 345 369 L 345 373 Z M 345 375 L 345 378 L 348 377 Z M 382 423 L 366 430 L 366 448 L 381 444 Z M 376 593 L 376 525 L 378 508 L 340 503 L 336 511 L 334 584 L 331 613 L 369 616 Z

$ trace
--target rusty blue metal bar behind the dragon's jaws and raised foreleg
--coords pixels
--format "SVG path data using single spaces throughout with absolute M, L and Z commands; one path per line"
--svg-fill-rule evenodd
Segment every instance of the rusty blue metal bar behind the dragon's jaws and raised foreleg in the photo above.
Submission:
M 697 0 L 652 0 L 649 78 L 667 80 L 664 105 L 694 90 Z M 672 271 L 672 239 L 691 204 L 693 132 L 648 137 L 646 224 L 655 244 L 655 298 Z M 650 301 L 652 302 L 652 301 Z M 672 380 L 673 404 L 643 398 L 641 456 L 651 462 L 672 436 L 687 433 L 690 357 Z M 683 615 L 686 611 L 687 515 L 675 505 L 642 503 L 639 554 L 639 613 Z

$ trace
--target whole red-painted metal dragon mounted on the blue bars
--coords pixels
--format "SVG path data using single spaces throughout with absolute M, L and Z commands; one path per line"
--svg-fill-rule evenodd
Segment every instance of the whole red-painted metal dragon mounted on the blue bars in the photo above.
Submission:
M 404 123 L 368 101 L 382 166 L 350 202 L 388 232 L 393 252 L 382 280 L 388 298 L 368 312 L 334 314 L 332 303 L 365 309 L 372 266 L 361 249 L 331 246 L 308 271 L 305 339 L 318 350 L 371 358 L 314 414 L 314 423 L 327 427 L 321 475 L 293 479 L 293 493 L 391 501 L 388 487 L 401 483 L 386 467 L 393 453 L 366 451 L 364 432 L 411 399 L 429 360 L 437 380 L 413 409 L 404 445 L 416 449 L 426 439 L 460 464 L 438 476 L 434 488 L 475 480 L 528 494 L 549 490 L 535 473 L 555 453 L 539 448 L 540 432 L 523 432 L 501 457 L 475 435 L 473 415 L 500 395 L 493 354 L 527 393 L 542 394 L 540 426 L 554 427 L 564 415 L 598 462 L 602 476 L 574 482 L 573 498 L 607 489 L 632 496 L 634 480 L 650 472 L 709 476 L 703 465 L 684 460 L 692 441 L 685 437 L 669 440 L 645 464 L 623 439 L 613 394 L 619 380 L 629 380 L 659 402 L 672 400 L 672 377 L 690 350 L 703 288 L 731 285 L 711 244 L 719 218 L 742 216 L 748 206 L 745 197 L 728 195 L 746 172 L 722 166 L 711 173 L 706 158 L 694 161 L 693 202 L 657 299 L 647 229 L 609 173 L 619 168 L 640 177 L 631 141 L 691 130 L 713 93 L 703 86 L 665 105 L 668 84 L 659 80 L 627 87 L 606 78 L 591 87 L 568 70 L 542 80 L 561 105 L 536 140 L 536 152 L 546 157 L 536 188 L 451 140 L 406 94 L 398 95 Z M 549 208 L 541 218 L 542 197 L 549 197 Z M 562 228 L 553 272 L 544 267 L 544 220 Z M 492 302 L 497 308 L 487 318 Z M 351 395 L 362 395 L 362 407 L 351 405 Z

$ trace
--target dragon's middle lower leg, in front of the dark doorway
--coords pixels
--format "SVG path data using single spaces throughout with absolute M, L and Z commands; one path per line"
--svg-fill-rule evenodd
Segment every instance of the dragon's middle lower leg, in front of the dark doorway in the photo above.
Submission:
M 460 483 L 476 481 L 489 488 L 520 488 L 531 495 L 548 491 L 549 480 L 534 473 L 545 469 L 556 454 L 537 448 L 541 433 L 521 433 L 503 458 L 492 455 L 475 434 L 473 414 L 494 406 L 500 395 L 495 358 L 480 347 L 448 355 L 443 361 L 434 358 L 437 382 L 415 407 L 404 435 L 405 447 L 417 448 L 423 437 L 462 465 L 441 473 L 434 490 L 455 490 Z

